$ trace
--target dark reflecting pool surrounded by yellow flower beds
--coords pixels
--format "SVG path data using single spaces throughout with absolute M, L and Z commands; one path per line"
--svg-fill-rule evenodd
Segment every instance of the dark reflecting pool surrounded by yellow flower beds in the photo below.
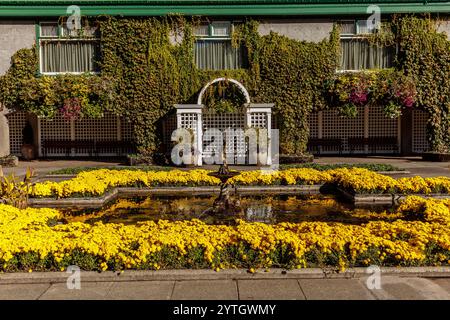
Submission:
M 63 222 L 137 224 L 143 221 L 199 219 L 207 224 L 234 224 L 237 219 L 275 224 L 280 222 L 366 223 L 378 219 L 386 206 L 355 208 L 332 196 L 233 196 L 233 208 L 215 211 L 217 196 L 150 196 L 121 198 L 102 209 L 63 208 Z M 387 219 L 380 215 L 379 219 Z

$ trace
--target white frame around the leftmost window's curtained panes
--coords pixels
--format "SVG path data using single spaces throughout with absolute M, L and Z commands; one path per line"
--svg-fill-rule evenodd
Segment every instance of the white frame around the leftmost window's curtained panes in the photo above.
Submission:
M 56 24 L 56 36 L 44 36 L 42 35 L 42 25 L 45 24 Z M 85 71 L 85 72 L 75 72 L 75 71 L 68 71 L 68 72 L 43 72 L 42 71 L 42 61 L 43 61 L 43 52 L 42 52 L 42 42 L 45 41 L 52 41 L 52 42 L 77 42 L 77 41 L 83 41 L 83 42 L 100 42 L 100 37 L 93 36 L 93 37 L 74 37 L 70 35 L 64 35 L 63 32 L 64 27 L 61 25 L 59 21 L 55 20 L 48 20 L 48 21 L 39 21 L 36 24 L 36 38 L 37 38 L 37 47 L 39 52 L 39 74 L 45 75 L 45 76 L 57 76 L 57 75 L 64 75 L 64 74 L 73 74 L 73 75 L 82 75 L 82 74 L 92 74 L 92 75 L 98 75 L 101 71 Z

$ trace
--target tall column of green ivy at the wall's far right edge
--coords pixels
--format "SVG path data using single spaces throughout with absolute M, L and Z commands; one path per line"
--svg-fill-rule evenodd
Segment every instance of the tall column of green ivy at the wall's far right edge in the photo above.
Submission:
M 396 17 L 391 24 L 399 65 L 417 88 L 417 104 L 430 115 L 431 149 L 450 152 L 450 41 L 429 17 Z

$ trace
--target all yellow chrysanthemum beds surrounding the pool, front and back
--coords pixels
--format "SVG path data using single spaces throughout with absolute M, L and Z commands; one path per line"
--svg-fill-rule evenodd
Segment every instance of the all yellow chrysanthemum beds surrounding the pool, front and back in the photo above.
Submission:
M 31 201 L 84 201 L 117 188 L 215 188 L 206 170 L 139 171 L 100 169 L 62 182 L 34 185 Z M 232 178 L 238 188 L 315 188 L 320 184 L 353 194 L 448 195 L 450 178 L 394 179 L 363 168 L 276 172 L 245 171 Z M 78 200 L 76 199 L 77 197 Z M 59 199 L 59 200 L 56 200 Z M 62 200 L 61 200 L 62 199 Z M 99 198 L 97 198 L 99 199 Z M 450 200 L 407 197 L 386 212 L 349 212 L 343 222 L 238 220 L 231 225 L 197 219 L 122 223 L 63 222 L 58 210 L 0 205 L 0 270 L 85 270 L 173 268 L 346 268 L 448 265 Z

